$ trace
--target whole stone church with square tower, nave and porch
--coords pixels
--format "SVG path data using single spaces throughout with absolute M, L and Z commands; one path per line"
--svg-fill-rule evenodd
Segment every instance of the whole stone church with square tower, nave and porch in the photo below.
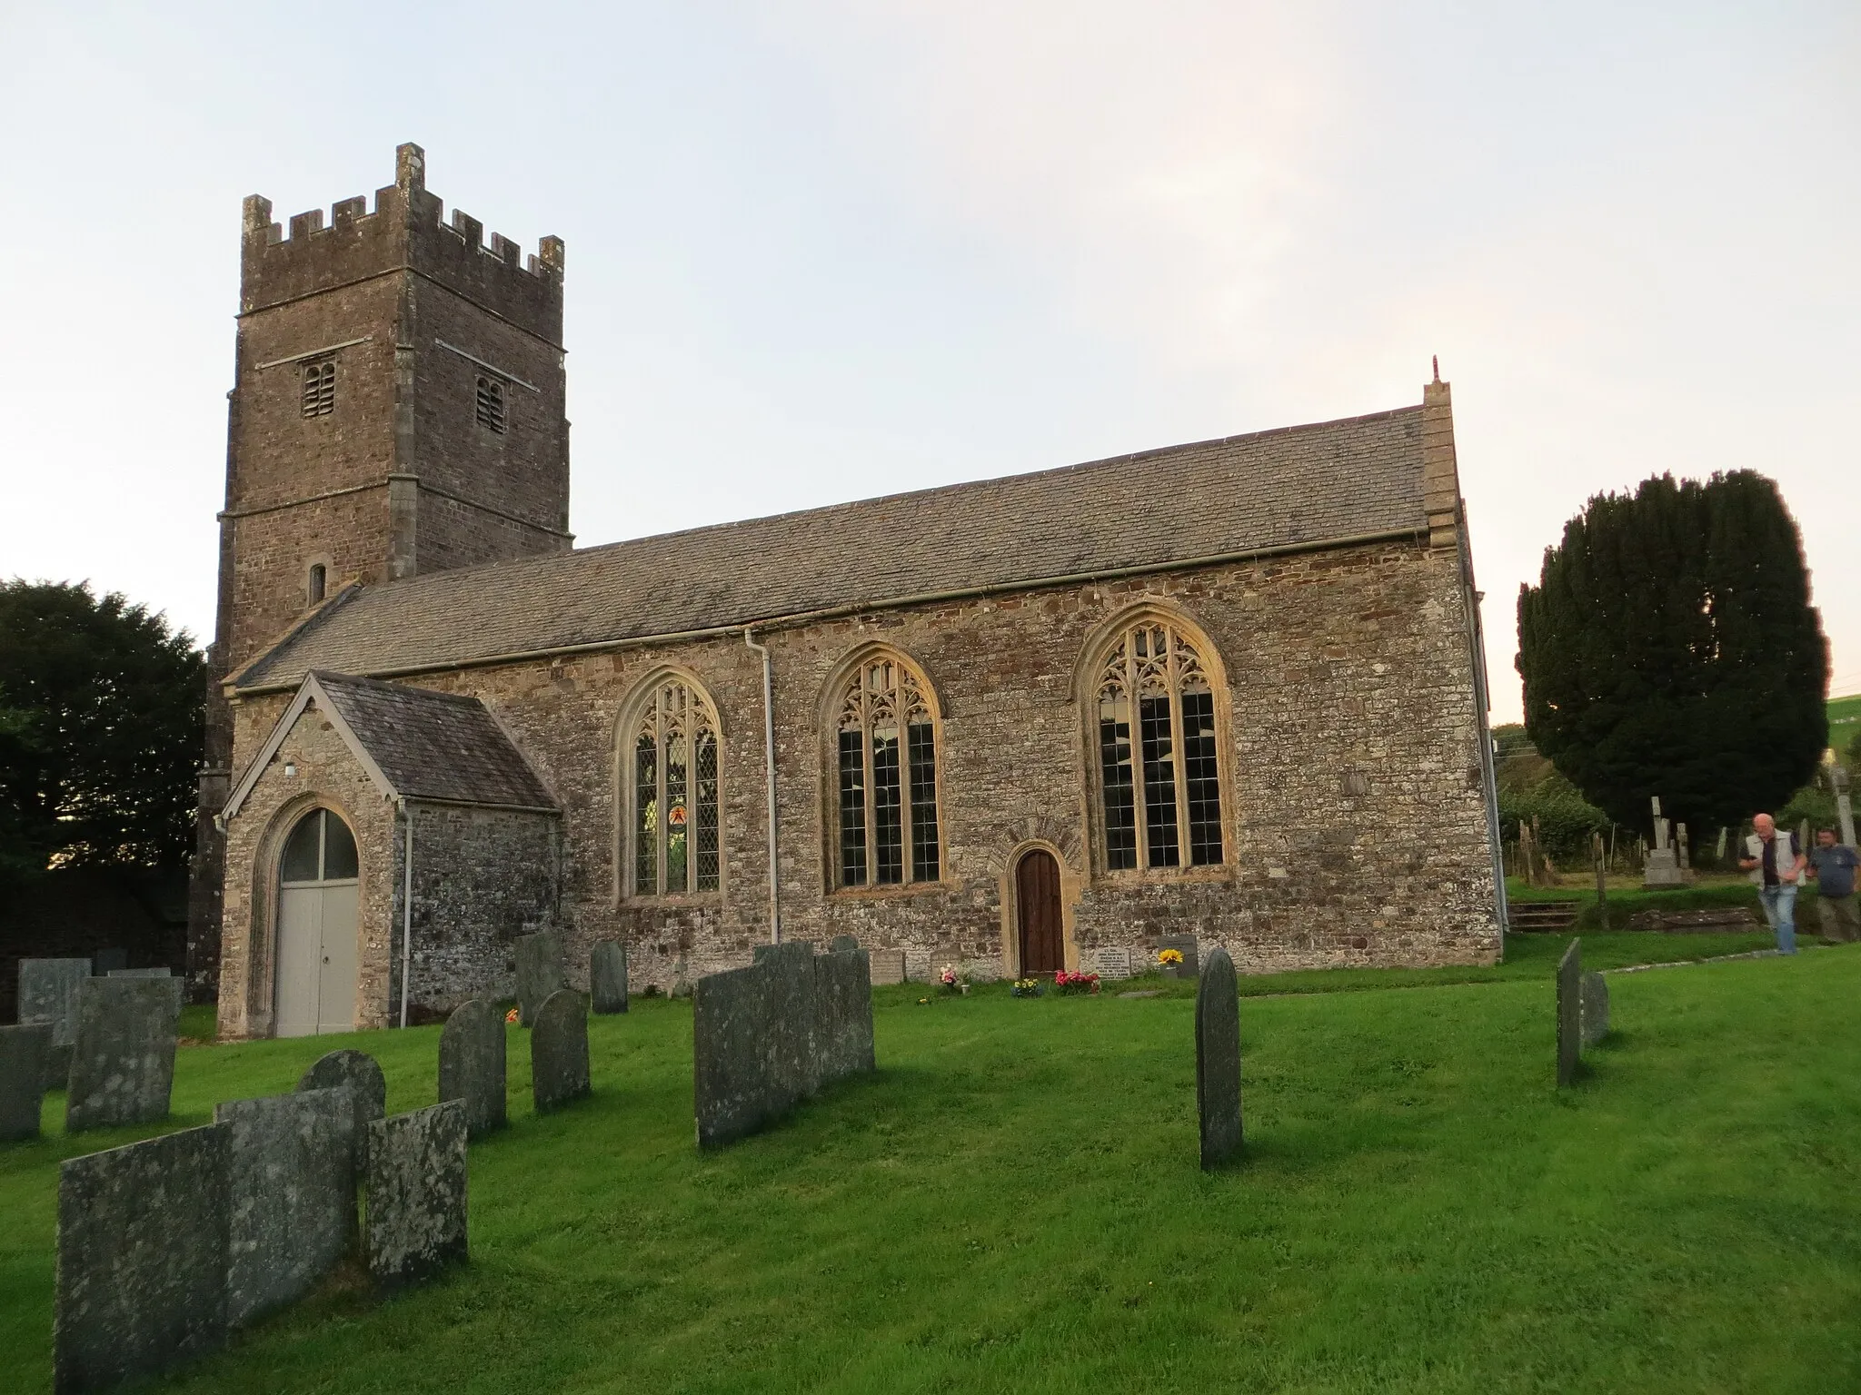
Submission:
M 1491 963 L 1446 383 L 1346 420 L 569 536 L 564 246 L 246 201 L 190 975 L 223 1036 L 430 1021 L 514 941 L 635 986 Z

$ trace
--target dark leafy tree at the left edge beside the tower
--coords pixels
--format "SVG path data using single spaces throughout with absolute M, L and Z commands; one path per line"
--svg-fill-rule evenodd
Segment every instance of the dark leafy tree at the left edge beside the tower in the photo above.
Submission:
M 121 595 L 0 582 L 0 872 L 184 865 L 205 677 Z

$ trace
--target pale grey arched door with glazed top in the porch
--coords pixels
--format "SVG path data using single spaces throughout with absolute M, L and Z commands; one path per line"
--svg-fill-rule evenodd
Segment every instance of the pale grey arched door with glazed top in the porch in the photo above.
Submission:
M 355 837 L 329 809 L 290 830 L 277 863 L 277 1034 L 355 1029 Z

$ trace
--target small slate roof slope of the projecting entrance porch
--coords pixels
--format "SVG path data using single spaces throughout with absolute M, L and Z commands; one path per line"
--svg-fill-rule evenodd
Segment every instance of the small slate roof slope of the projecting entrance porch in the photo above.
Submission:
M 409 800 L 555 809 L 529 761 L 476 698 L 315 671 L 337 716 Z

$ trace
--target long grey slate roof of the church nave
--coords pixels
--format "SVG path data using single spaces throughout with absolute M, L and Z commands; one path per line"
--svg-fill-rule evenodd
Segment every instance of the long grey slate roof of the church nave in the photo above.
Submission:
M 1422 407 L 355 588 L 238 673 L 413 673 L 1424 530 Z

